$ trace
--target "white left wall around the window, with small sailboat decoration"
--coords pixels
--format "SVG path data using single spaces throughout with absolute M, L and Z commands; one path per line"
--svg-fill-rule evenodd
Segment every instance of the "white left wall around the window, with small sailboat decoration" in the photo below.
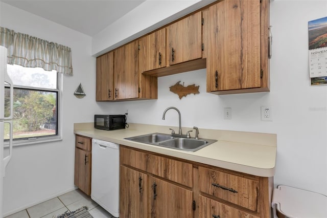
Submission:
M 90 122 L 95 107 L 96 60 L 91 37 L 0 3 L 0 26 L 72 48 L 74 76 L 63 76 L 62 141 L 13 148 L 4 179 L 4 214 L 74 189 L 75 122 Z M 82 83 L 86 97 L 74 92 Z

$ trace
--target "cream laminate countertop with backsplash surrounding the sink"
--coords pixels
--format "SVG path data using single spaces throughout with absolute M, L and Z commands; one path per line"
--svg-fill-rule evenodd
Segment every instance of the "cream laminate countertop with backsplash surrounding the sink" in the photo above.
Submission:
M 75 123 L 74 133 L 90 138 L 110 141 L 158 154 L 168 155 L 260 177 L 273 177 L 276 162 L 276 134 L 249 133 L 216 129 L 199 129 L 199 137 L 217 142 L 195 152 L 133 142 L 124 138 L 150 133 L 170 134 L 172 126 L 130 123 L 129 128 L 100 130 L 94 123 Z M 192 128 L 183 127 L 183 132 Z

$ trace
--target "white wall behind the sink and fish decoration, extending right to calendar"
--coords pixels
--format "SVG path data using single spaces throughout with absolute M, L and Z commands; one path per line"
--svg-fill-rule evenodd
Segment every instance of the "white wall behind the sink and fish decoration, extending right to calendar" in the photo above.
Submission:
M 270 3 L 273 45 L 269 93 L 216 96 L 205 92 L 205 70 L 158 79 L 158 100 L 98 103 L 107 113 L 125 113 L 128 122 L 277 134 L 275 185 L 284 184 L 327 194 L 327 86 L 310 86 L 308 21 L 327 16 L 327 1 Z M 150 18 L 149 18 L 150 19 Z M 200 94 L 179 100 L 169 91 L 177 81 L 200 85 Z M 272 107 L 272 122 L 260 118 L 260 106 Z M 223 119 L 224 107 L 232 119 Z M 167 130 L 169 133 L 169 130 Z M 201 135 L 201 133 L 200 133 Z

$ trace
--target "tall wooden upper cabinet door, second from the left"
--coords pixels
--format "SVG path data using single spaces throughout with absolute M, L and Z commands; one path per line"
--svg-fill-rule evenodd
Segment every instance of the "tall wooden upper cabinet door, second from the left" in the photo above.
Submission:
M 114 99 L 138 98 L 138 41 L 114 51 Z

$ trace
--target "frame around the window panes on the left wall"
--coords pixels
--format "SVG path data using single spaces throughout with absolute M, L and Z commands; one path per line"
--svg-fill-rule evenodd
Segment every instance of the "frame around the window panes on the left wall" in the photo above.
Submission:
M 7 85 L 5 85 L 7 86 Z M 56 105 L 56 113 L 57 113 L 57 134 L 49 135 L 49 136 L 39 136 L 39 137 L 31 137 L 31 138 L 21 138 L 21 139 L 13 139 L 13 146 L 21 146 L 21 145 L 31 145 L 31 144 L 39 144 L 39 143 L 48 143 L 54 141 L 62 140 L 62 86 L 63 86 L 63 75 L 57 72 L 57 89 L 49 89 L 49 88 L 36 88 L 32 86 L 24 86 L 24 85 L 13 85 L 14 89 L 26 89 L 32 91 L 49 91 L 49 92 L 57 92 L 57 105 Z M 5 147 L 9 147 L 9 140 L 5 140 Z

